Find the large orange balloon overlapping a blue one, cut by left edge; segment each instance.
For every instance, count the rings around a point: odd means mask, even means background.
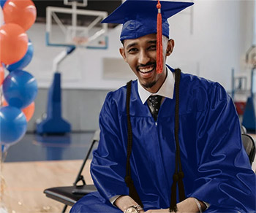
[[[15,23],[4,24],[0,27],[0,61],[12,64],[20,61],[28,50],[29,37]]]

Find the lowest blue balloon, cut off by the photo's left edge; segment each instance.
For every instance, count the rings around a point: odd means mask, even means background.
[[[26,117],[16,107],[0,108],[0,144],[13,144],[26,133]]]

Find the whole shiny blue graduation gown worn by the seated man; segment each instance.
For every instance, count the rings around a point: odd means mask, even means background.
[[[109,198],[129,194],[124,182],[126,93],[124,86],[105,99],[99,116],[99,147],[91,162],[98,192],[80,199],[71,212],[121,212]],[[186,196],[210,204],[206,212],[256,212],[255,174],[241,142],[236,109],[225,89],[217,82],[181,73],[179,105]],[[170,206],[176,151],[174,107],[175,95],[165,98],[156,123],[147,103],[140,101],[138,81],[132,82],[130,162],[132,179],[146,210]]]

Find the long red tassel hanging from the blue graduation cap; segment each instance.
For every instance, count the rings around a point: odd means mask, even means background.
[[[163,58],[162,58],[162,14],[161,14],[161,3],[158,0],[157,3],[157,73],[162,73]]]

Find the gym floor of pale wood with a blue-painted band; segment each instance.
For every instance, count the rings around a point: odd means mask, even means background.
[[[18,144],[10,147],[2,163],[0,209],[12,213],[61,212],[64,205],[47,198],[43,190],[72,185],[93,135],[93,132],[67,136],[26,134]],[[256,139],[255,134],[251,135]],[[83,176],[86,183],[92,184],[89,165],[90,160]],[[256,170],[256,162],[252,169]]]

